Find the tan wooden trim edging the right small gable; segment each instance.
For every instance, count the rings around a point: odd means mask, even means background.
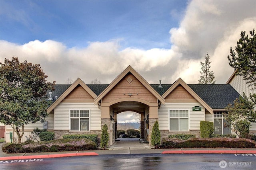
[[[200,98],[181,78],[178,78],[178,80],[176,80],[176,82],[174,82],[174,84],[172,84],[172,86],[166,90],[166,92],[162,95],[163,98],[166,98],[179,84],[183,86],[200,104],[202,104],[206,110],[213,114],[213,109],[206,104],[206,102],[204,102],[204,100],[202,100],[202,98]]]

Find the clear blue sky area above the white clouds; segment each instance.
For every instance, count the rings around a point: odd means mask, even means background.
[[[123,48],[170,48],[184,0],[10,0],[1,1],[0,39],[24,44],[38,39],[86,47],[120,39]],[[161,26],[160,26],[161,25]]]

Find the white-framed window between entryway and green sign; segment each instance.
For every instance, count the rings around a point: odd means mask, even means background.
[[[169,110],[170,131],[188,131],[188,110]]]

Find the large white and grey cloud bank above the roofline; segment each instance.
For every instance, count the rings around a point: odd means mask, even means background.
[[[56,80],[58,84],[78,77],[88,84],[95,78],[109,84],[128,65],[149,83],[157,84],[162,79],[163,84],[171,84],[179,77],[197,83],[200,61],[208,53],[217,83],[226,83],[233,71],[227,60],[230,46],[236,45],[241,31],[249,33],[255,27],[255,5],[255,0],[190,1],[181,12],[180,26],[170,28],[171,49],[120,47],[119,39],[70,49],[53,40],[23,45],[0,40],[0,61],[15,56],[20,61],[39,63],[48,81]]]

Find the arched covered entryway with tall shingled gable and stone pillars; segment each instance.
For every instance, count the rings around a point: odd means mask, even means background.
[[[118,113],[134,111],[141,115],[141,137],[150,144],[150,134],[156,120],[158,108],[164,98],[148,84],[131,66],[128,66],[101,94],[94,99],[101,109],[101,126],[109,129],[113,145],[116,137]]]

